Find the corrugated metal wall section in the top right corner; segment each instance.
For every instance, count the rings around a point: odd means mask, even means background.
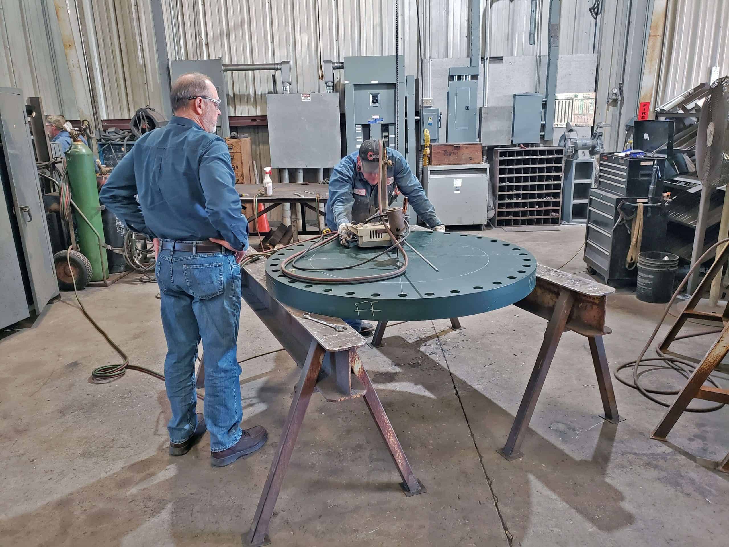
[[[657,104],[708,82],[712,66],[729,75],[729,1],[669,1]]]

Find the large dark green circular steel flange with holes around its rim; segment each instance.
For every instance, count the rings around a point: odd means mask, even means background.
[[[294,244],[266,262],[268,291],[280,302],[313,314],[370,321],[445,319],[480,314],[509,306],[529,295],[537,282],[537,260],[529,251],[488,236],[456,232],[416,231],[408,243],[438,268],[434,271],[405,247],[408,270],[386,281],[355,284],[319,284],[286,277],[281,263],[308,247]],[[351,265],[382,252],[383,247],[341,247],[338,242],[311,252],[297,265],[331,268]],[[358,268],[338,271],[303,271],[317,277],[381,274],[402,265],[394,251]],[[292,265],[289,264],[289,270]]]

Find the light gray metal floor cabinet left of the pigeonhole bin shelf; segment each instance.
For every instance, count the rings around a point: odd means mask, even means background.
[[[446,226],[488,222],[488,163],[425,166],[423,187]]]

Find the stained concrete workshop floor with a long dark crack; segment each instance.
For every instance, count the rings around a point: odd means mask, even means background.
[[[504,233],[540,263],[560,266],[584,228]],[[584,271],[582,254],[566,271]],[[82,299],[134,364],[162,370],[156,284],[128,276]],[[33,328],[5,334],[0,365],[0,544],[235,546],[249,529],[298,378],[284,352],[243,365],[244,427],[270,432],[265,449],[211,468],[208,437],[167,454],[163,384],[130,371],[87,383],[119,362],[69,293]],[[611,367],[636,357],[659,305],[609,300]],[[587,340],[567,333],[523,443],[504,445],[545,321],[513,306],[461,319],[410,322],[365,346],[378,388],[426,494],[406,498],[361,400],[315,395],[271,523],[275,546],[719,546],[729,536],[729,476],[696,463],[729,451],[726,408],[685,414],[670,443],[648,438],[663,408],[614,381],[624,422],[603,422]],[[689,325],[687,332],[703,327]],[[695,354],[706,339],[682,342]],[[243,305],[238,355],[278,344]],[[661,376],[663,385],[682,385]],[[726,385],[726,382],[725,382]],[[202,405],[198,406],[202,408]],[[724,538],[722,540],[722,538]]]

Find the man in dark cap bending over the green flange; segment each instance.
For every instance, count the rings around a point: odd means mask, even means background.
[[[387,168],[387,199],[392,203],[402,193],[410,201],[415,212],[429,228],[445,231],[433,204],[425,195],[422,185],[410,169],[405,157],[393,148],[386,148],[387,158],[392,165]],[[339,241],[349,247],[356,238],[349,230],[352,222],[367,220],[377,210],[378,184],[380,183],[380,148],[378,142],[370,139],[362,142],[357,152],[345,156],[332,171],[327,200],[327,226],[339,233]],[[344,319],[352,328],[362,334],[375,330],[374,325],[359,319]]]

